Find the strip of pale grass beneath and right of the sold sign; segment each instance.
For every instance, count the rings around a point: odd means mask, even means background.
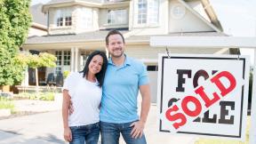
[[[218,139],[199,139],[196,140],[195,144],[249,144],[249,132],[251,127],[251,116],[247,116],[247,123],[246,123],[246,136],[245,141],[239,140],[218,140]]]

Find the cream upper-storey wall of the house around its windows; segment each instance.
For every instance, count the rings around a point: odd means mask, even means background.
[[[50,8],[49,9],[49,34],[74,34],[83,33],[88,31],[95,31],[98,29],[108,28],[129,28],[132,30],[133,35],[163,35],[175,32],[199,32],[199,31],[214,31],[209,25],[205,24],[204,20],[196,17],[196,15],[190,12],[187,8],[183,17],[177,19],[173,17],[173,6],[180,4],[177,0],[159,0],[159,15],[157,24],[138,24],[138,0],[130,1],[130,7],[121,6],[117,8],[92,8],[92,28],[84,28],[83,9],[89,8],[82,5],[76,5],[72,7],[64,8]],[[205,20],[209,21],[207,14],[204,11],[200,1],[190,1],[187,4],[200,13]],[[182,4],[180,4],[182,5]],[[184,6],[183,6],[184,7]],[[118,9],[128,10],[128,23],[127,24],[108,24],[108,10]],[[56,13],[58,10],[69,10],[72,12],[72,26],[57,27]]]

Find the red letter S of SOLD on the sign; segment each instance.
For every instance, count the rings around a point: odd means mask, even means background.
[[[168,109],[165,113],[165,116],[169,121],[176,121],[176,120],[180,119],[180,123],[177,122],[177,123],[172,124],[175,129],[179,129],[180,126],[187,123],[187,118],[182,113],[177,113],[177,114],[171,115],[172,112],[175,112],[178,110],[179,110],[179,108],[176,105],[174,105],[172,108]]]

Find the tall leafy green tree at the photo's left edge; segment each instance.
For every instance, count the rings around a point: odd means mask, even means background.
[[[0,85],[19,84],[24,65],[17,54],[28,36],[30,0],[0,0]]]

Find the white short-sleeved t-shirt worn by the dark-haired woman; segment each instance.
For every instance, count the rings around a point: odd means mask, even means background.
[[[100,121],[100,100],[102,89],[98,82],[92,83],[83,73],[71,73],[63,85],[68,90],[74,112],[68,117],[69,126],[94,124]]]

